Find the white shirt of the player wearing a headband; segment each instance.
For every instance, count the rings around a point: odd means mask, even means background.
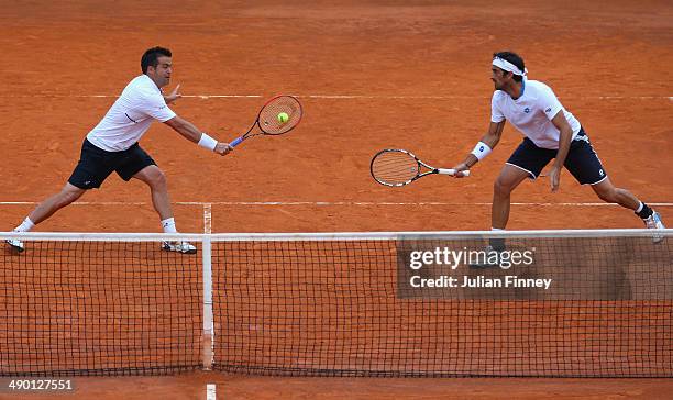
[[[523,93],[516,100],[503,90],[493,93],[490,121],[498,123],[507,120],[536,146],[556,149],[560,132],[551,120],[561,110],[575,138],[581,129],[580,121],[563,108],[551,88],[537,80],[525,80]]]

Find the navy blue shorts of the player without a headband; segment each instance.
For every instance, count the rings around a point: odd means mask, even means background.
[[[68,182],[80,189],[100,188],[113,171],[123,180],[129,180],[151,165],[156,163],[137,143],[122,152],[107,152],[85,138],[79,163]]]

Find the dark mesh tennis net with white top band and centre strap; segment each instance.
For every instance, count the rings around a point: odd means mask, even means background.
[[[672,377],[672,236],[2,233],[0,375]]]

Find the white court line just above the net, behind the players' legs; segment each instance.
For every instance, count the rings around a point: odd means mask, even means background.
[[[37,205],[35,201],[0,201],[0,205]],[[76,201],[71,205],[148,205],[147,202],[123,202],[123,201]],[[203,218],[208,209],[209,216],[212,212],[212,205],[492,205],[490,202],[442,202],[442,201],[421,201],[421,202],[388,202],[388,201],[178,201],[177,205],[198,205],[203,207]],[[652,207],[673,207],[673,203],[659,202],[647,203]],[[610,203],[583,203],[583,202],[564,202],[564,203],[517,203],[511,205],[530,205],[530,207],[621,207]]]

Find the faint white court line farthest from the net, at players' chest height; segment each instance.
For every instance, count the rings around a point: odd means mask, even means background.
[[[333,100],[453,100],[453,99],[490,99],[490,96],[413,96],[413,95],[293,95],[304,99],[333,99]],[[11,98],[48,98],[48,99],[114,99],[119,95],[16,95],[0,96]],[[183,95],[184,98],[195,99],[260,99],[267,96],[263,95]],[[580,96],[573,99],[585,100],[669,100],[673,101],[673,96]]]

